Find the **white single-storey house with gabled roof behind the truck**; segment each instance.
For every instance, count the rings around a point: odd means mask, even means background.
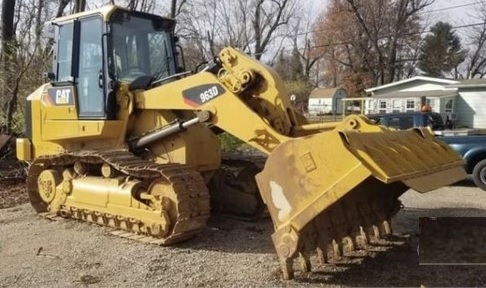
[[[486,128],[486,79],[416,76],[365,91],[365,114],[420,111],[429,104],[456,127]]]

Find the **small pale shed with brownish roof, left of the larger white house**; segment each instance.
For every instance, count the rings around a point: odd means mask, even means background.
[[[310,114],[339,114],[343,111],[342,99],[347,96],[343,88],[315,88],[309,95]]]

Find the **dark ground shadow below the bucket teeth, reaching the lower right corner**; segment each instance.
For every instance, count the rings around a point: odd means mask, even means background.
[[[329,268],[322,268],[307,275],[307,279],[299,277],[295,281],[352,287],[471,287],[486,284],[484,266],[419,266],[416,248],[403,237],[395,237],[387,251],[365,257],[360,263],[347,264],[342,272],[327,270]]]

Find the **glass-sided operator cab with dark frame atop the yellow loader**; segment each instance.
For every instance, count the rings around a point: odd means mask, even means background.
[[[177,72],[172,19],[106,6],[51,23],[49,78],[53,86],[73,91],[79,119],[115,119],[121,82],[146,88]]]

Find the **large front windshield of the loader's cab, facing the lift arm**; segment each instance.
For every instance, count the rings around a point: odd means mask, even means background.
[[[175,73],[172,25],[162,21],[169,20],[117,15],[112,26],[116,80],[132,81],[143,75],[162,79]]]

